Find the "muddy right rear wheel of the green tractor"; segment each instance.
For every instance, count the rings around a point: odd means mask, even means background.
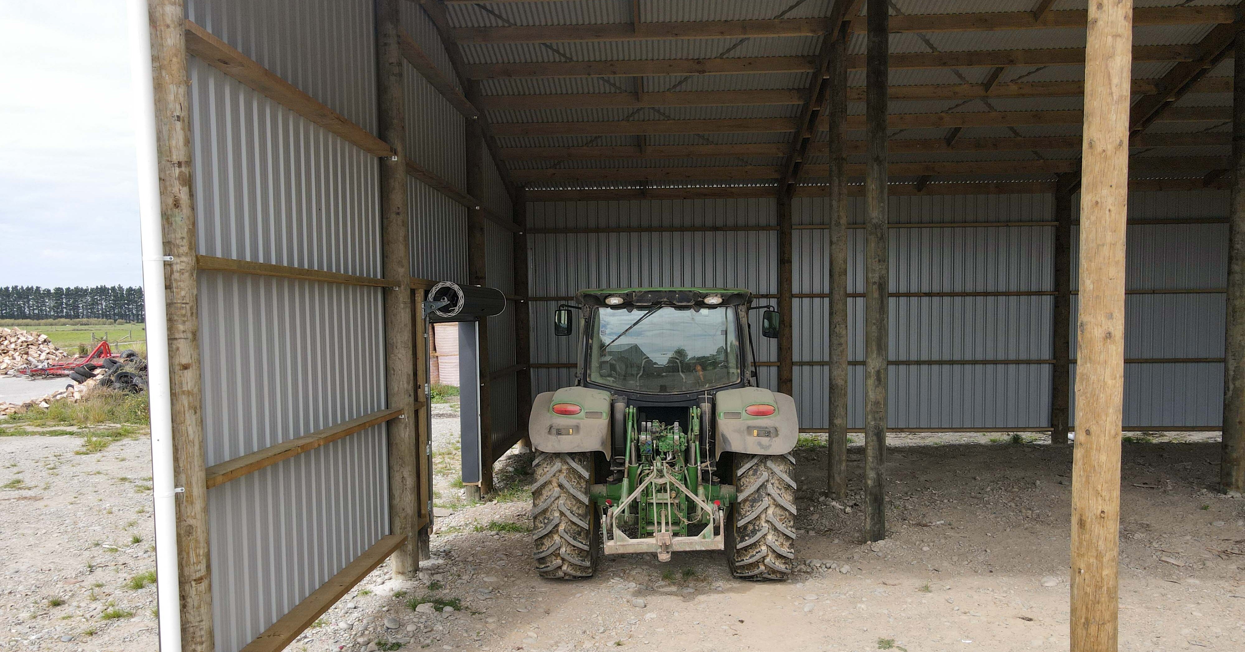
[[[796,458],[736,454],[735,489],[726,546],[731,574],[786,580],[796,564]]]

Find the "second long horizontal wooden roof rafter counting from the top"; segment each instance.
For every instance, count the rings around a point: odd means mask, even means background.
[[[1056,47],[1046,50],[984,50],[967,52],[909,52],[890,56],[895,70],[920,68],[994,68],[998,66],[1081,66],[1084,50]],[[1149,45],[1133,49],[1134,61],[1190,61],[1196,46]],[[463,73],[473,80],[524,77],[635,77],[637,75],[741,75],[774,72],[812,72],[815,56],[768,56],[732,58],[664,58],[626,61],[554,61],[515,63],[473,63]],[[848,57],[849,70],[864,70],[864,55]]]

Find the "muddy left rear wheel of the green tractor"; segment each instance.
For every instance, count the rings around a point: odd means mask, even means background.
[[[596,572],[600,524],[593,515],[591,453],[542,453],[533,460],[532,539],[542,577],[574,580]]]

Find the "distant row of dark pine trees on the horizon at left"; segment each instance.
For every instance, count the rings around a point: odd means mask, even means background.
[[[0,286],[0,319],[143,321],[143,289]]]

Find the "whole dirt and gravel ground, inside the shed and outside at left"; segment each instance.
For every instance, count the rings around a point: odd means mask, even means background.
[[[591,580],[549,581],[532,571],[530,455],[507,457],[498,500],[472,504],[453,479],[457,413],[435,414],[437,504],[449,515],[433,559],[415,580],[381,566],[288,650],[1068,646],[1071,450],[1036,435],[893,433],[890,538],[872,545],[859,483],[828,500],[824,439],[803,439],[801,566],[788,582],[732,580],[710,552],[610,556]],[[154,564],[139,511],[147,442],[73,455],[78,443],[0,438],[0,484],[25,485],[0,491],[0,650],[154,650],[152,589],[126,586]],[[859,444],[849,454],[859,472]],[[1210,490],[1218,459],[1216,433],[1125,442],[1120,650],[1245,650],[1245,500]],[[66,603],[50,606],[55,596]],[[133,615],[103,620],[110,601]]]

